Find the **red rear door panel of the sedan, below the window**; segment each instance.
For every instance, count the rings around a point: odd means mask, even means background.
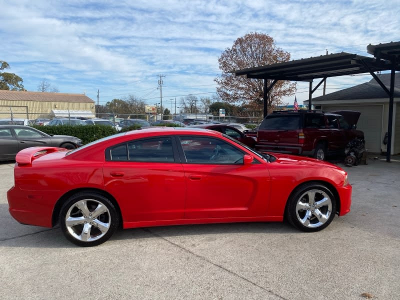
[[[103,176],[124,222],[183,218],[185,178],[180,163],[106,161]]]

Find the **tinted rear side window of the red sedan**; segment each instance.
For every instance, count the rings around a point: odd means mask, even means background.
[[[120,144],[108,149],[107,160],[173,162],[172,140],[157,137]]]

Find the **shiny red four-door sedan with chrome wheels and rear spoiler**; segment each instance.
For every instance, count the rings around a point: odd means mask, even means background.
[[[67,239],[98,245],[115,229],[287,220],[304,231],[350,210],[347,173],[328,162],[261,154],[222,133],[155,127],[74,150],[16,155],[9,212],[24,224],[60,224]]]

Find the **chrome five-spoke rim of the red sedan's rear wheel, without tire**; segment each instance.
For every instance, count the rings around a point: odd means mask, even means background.
[[[100,201],[82,199],[73,203],[65,214],[65,227],[77,240],[90,242],[103,237],[110,228],[108,208]]]

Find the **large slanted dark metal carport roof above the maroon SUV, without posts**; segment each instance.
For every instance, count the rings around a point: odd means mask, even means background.
[[[400,47],[400,46],[397,46]],[[233,71],[236,76],[290,81],[360,74],[390,69],[390,61],[340,52]],[[400,67],[397,63],[397,70]]]

